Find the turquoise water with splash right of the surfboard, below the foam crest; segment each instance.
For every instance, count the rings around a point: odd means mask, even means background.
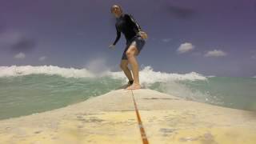
[[[213,77],[206,81],[155,83],[150,89],[196,102],[256,111],[256,78]]]

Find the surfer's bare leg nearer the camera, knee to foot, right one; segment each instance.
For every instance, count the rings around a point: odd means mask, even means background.
[[[138,55],[138,50],[134,45],[131,45],[126,51],[126,56],[128,58],[128,62],[132,67],[134,82],[131,86],[126,88],[127,90],[136,90],[141,88],[138,78],[138,62],[137,59],[135,58],[136,55]]]

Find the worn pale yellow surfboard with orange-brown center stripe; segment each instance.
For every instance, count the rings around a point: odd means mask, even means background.
[[[112,90],[64,108],[2,120],[0,142],[254,144],[256,113],[149,89]]]

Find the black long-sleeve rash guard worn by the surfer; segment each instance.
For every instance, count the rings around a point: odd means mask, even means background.
[[[113,45],[115,45],[120,39],[121,32],[125,35],[127,43],[142,30],[131,14],[122,14],[116,19],[117,22],[115,23],[115,28],[117,30],[117,37],[115,38]]]

